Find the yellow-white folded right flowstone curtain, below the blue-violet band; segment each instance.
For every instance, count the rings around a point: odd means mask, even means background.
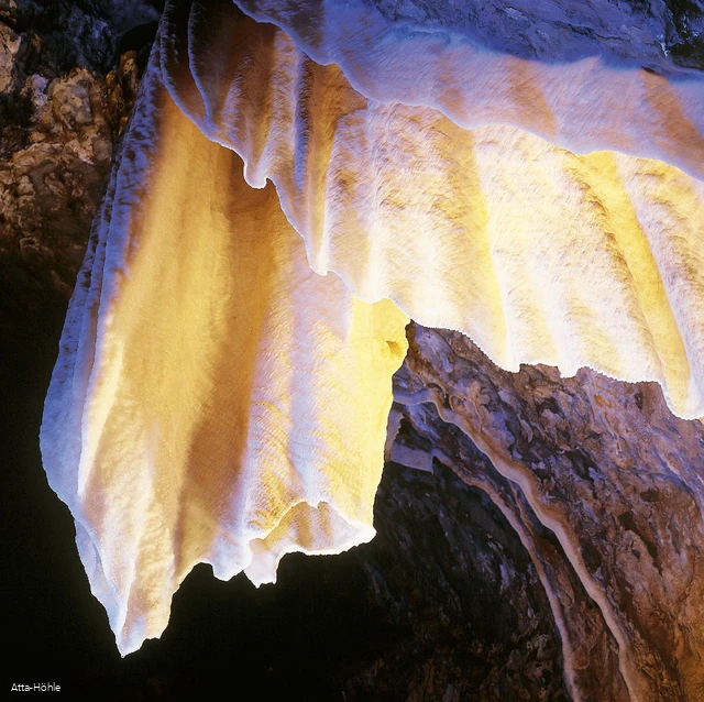
[[[169,92],[242,156],[251,185],[276,184],[315,271],[462,331],[504,369],[657,381],[676,415],[704,416],[702,180],[662,161],[574,154],[516,125],[463,129],[431,107],[371,100],[286,32],[234,6],[215,17],[199,7],[167,11]],[[663,144],[675,111],[651,114]],[[622,118],[612,141],[626,138]]]

